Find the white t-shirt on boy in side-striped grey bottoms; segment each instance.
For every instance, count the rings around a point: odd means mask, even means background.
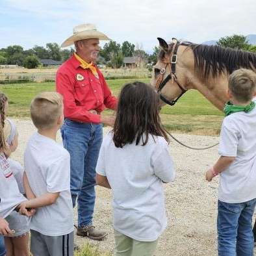
[[[37,209],[31,229],[43,235],[60,236],[73,231],[70,194],[70,154],[55,140],[34,133],[25,149],[25,172],[32,191],[38,196],[60,192],[52,205]]]

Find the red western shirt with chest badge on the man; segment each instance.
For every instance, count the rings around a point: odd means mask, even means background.
[[[80,62],[71,56],[56,76],[56,90],[64,99],[64,116],[78,122],[100,123],[100,115],[89,110],[102,112],[105,107],[116,109],[117,99],[112,96],[103,74],[96,67],[97,78],[90,69],[84,70]]]

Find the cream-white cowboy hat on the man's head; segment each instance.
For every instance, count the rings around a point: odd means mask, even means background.
[[[97,38],[99,40],[111,40],[105,34],[97,31],[94,24],[81,24],[73,28],[73,36],[70,36],[60,47],[67,47],[74,42],[84,39]]]

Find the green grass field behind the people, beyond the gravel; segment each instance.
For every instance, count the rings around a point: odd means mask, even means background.
[[[149,83],[149,79],[108,80],[112,92],[118,96],[123,84],[131,81]],[[9,99],[8,116],[29,118],[29,105],[38,92],[55,90],[55,83],[6,84],[0,86]],[[112,114],[106,110],[107,114]],[[217,135],[224,114],[213,107],[196,90],[190,90],[179,99],[174,107],[165,106],[161,110],[162,123],[169,131],[180,133]]]

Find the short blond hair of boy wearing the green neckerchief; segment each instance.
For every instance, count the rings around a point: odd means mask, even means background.
[[[229,90],[241,103],[250,101],[255,94],[256,73],[241,68],[229,75]]]

